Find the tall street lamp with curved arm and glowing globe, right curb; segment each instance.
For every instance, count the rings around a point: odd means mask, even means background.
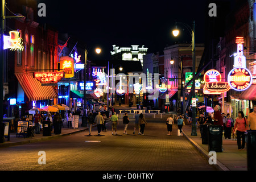
[[[176,22],[176,27],[177,27],[177,23],[183,24],[183,26],[185,26],[188,31],[191,33],[192,32],[192,60],[193,60],[193,78],[192,78],[192,98],[195,98],[195,82],[196,82],[196,55],[195,55],[195,51],[196,51],[196,45],[195,45],[195,21],[193,21],[193,28],[191,28],[190,26],[188,26],[188,24],[186,23],[181,23],[181,22]],[[179,30],[177,30],[177,28],[172,31],[172,34],[174,36],[179,35]],[[192,136],[197,136],[197,132],[196,132],[196,105],[192,104],[192,131],[191,131],[191,135]]]

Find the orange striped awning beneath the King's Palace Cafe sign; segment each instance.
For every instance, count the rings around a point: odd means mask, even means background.
[[[32,75],[15,74],[20,86],[24,90],[28,101],[48,100],[58,98],[52,86],[42,86]]]

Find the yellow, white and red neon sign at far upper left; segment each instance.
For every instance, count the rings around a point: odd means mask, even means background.
[[[20,50],[23,51],[22,38],[19,37],[18,31],[10,31],[10,36],[3,36],[3,49],[10,48],[10,51]]]

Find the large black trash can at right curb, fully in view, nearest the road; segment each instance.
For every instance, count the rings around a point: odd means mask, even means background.
[[[208,150],[222,152],[222,131],[221,125],[210,125],[208,130]]]

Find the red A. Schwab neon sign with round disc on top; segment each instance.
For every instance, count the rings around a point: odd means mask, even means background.
[[[221,74],[215,69],[210,69],[204,74],[204,94],[221,94],[230,89],[228,82],[221,81]]]

